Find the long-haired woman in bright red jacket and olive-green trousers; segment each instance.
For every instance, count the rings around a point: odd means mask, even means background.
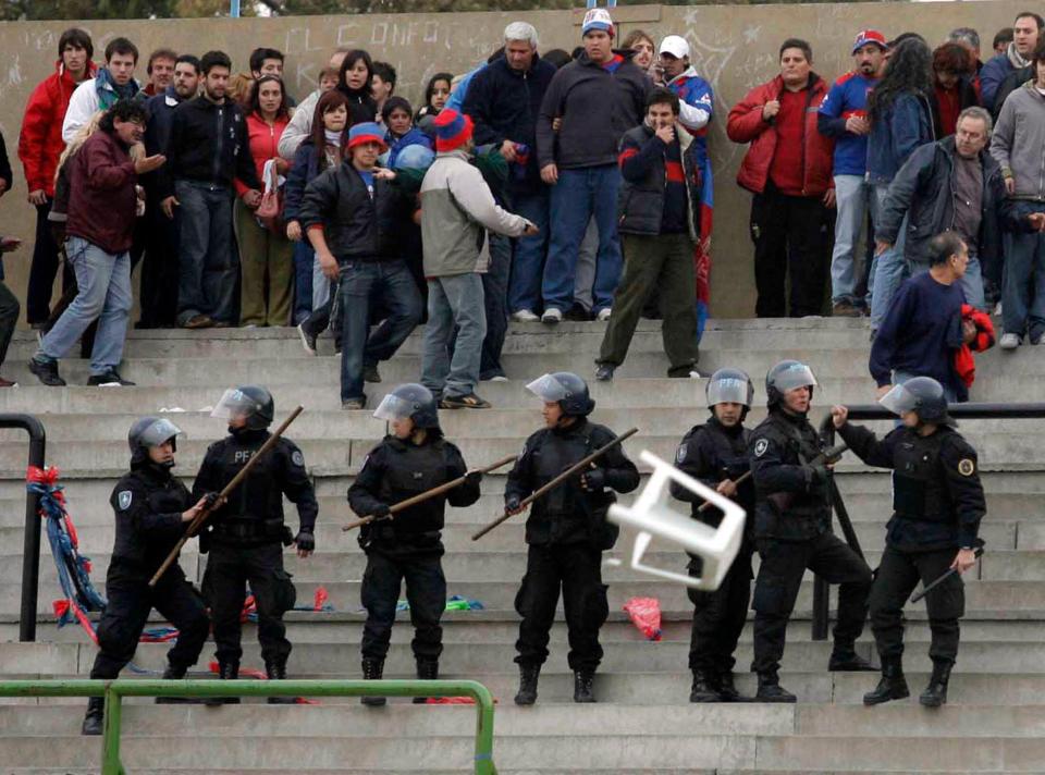
[[[247,134],[250,155],[262,182],[269,160],[279,175],[285,175],[291,164],[281,159],[280,136],[291,121],[286,107],[286,90],[275,75],[258,78],[250,93]],[[261,223],[255,210],[243,200],[246,186],[236,181],[234,222],[239,243],[239,324],[288,325],[294,298],[294,245],[286,238],[282,224]],[[268,283],[266,283],[268,279]]]

